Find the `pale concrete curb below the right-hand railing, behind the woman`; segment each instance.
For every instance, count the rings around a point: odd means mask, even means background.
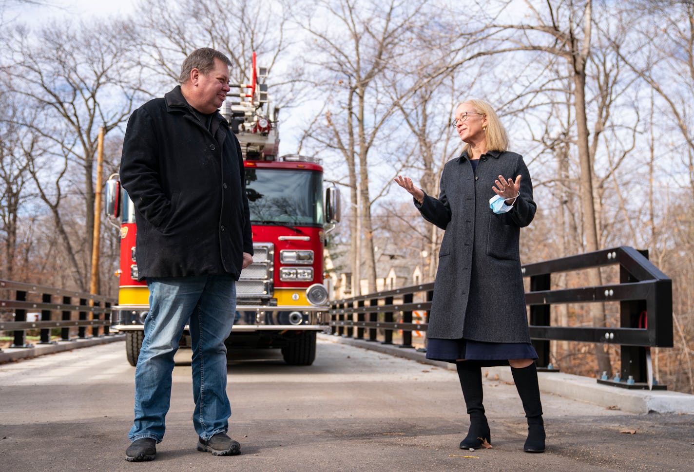
[[[320,339],[328,342],[348,344],[349,346],[370,349],[371,351],[378,351],[396,357],[405,357],[405,359],[415,360],[422,364],[435,365],[442,369],[455,370],[455,364],[428,360],[425,353],[418,352],[412,348],[400,348],[393,344],[381,344],[380,342],[369,342],[362,339],[334,335],[319,336]],[[514,381],[509,366],[485,367],[484,371],[492,378],[498,376],[499,380],[504,382]],[[622,389],[620,387],[599,384],[595,382],[594,378],[575,376],[562,372],[539,372],[538,380],[540,389],[543,392],[593,403],[606,408],[609,407],[613,410],[639,414],[650,412],[694,414],[694,395],[682,394],[679,391]]]

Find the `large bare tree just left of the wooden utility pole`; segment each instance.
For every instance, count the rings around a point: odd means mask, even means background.
[[[65,228],[58,228],[68,251],[75,246],[84,248],[81,257],[87,261],[91,254],[94,225],[94,153],[99,126],[110,131],[123,123],[133,107],[135,92],[130,85],[128,63],[124,58],[132,43],[132,30],[125,22],[75,25],[53,23],[38,31],[25,26],[15,27],[7,35],[3,52],[8,60],[2,70],[8,77],[12,92],[24,97],[26,106],[42,112],[39,123],[22,126],[42,137],[46,153],[65,158],[57,165],[53,180],[46,175],[56,194],[60,186],[71,183],[71,190],[83,199],[85,228],[83,241],[70,242]],[[41,198],[51,208],[56,224],[63,224],[60,199],[53,198],[40,178],[35,165],[33,176]],[[81,176],[79,178],[78,176]],[[52,202],[52,203],[51,203]],[[85,269],[77,256],[70,256],[75,282],[86,289]]]

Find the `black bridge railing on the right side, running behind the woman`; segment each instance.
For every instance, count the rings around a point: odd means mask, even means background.
[[[619,265],[620,283],[598,287],[551,289],[552,274]],[[530,277],[530,337],[548,369],[550,341],[591,342],[621,346],[620,371],[598,382],[627,388],[652,385],[651,347],[672,347],[672,281],[648,260],[648,251],[629,246],[572,255],[534,264],[521,271]],[[426,330],[434,284],[413,285],[331,301],[332,334],[393,344],[393,331],[403,332],[399,346],[412,346],[412,332]],[[619,302],[619,327],[550,326],[550,307],[563,303]],[[425,322],[414,323],[413,312],[425,310]]]

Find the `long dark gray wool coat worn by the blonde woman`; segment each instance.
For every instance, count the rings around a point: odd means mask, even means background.
[[[495,214],[489,199],[498,176],[521,175],[514,208]],[[532,182],[521,155],[489,151],[473,172],[468,155],[446,163],[438,199],[415,205],[422,216],[446,230],[427,336],[482,342],[530,342],[525,291],[518,253],[520,230],[535,216]]]

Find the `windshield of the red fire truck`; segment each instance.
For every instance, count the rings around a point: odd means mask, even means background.
[[[317,171],[246,167],[251,221],[323,225],[323,176]]]

